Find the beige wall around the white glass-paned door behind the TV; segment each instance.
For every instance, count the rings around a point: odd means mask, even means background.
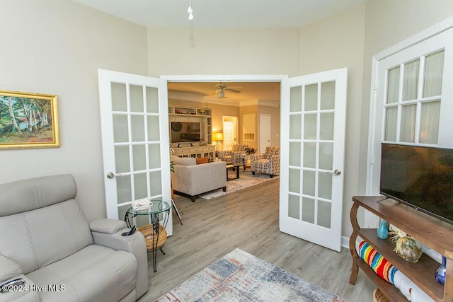
[[[360,137],[360,194],[365,194],[372,57],[453,16],[451,0],[369,0],[365,14],[365,52]]]

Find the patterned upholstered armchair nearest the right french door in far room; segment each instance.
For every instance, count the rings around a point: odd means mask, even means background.
[[[265,153],[252,154],[251,156],[252,174],[265,173],[270,178],[280,174],[280,147],[268,146]]]

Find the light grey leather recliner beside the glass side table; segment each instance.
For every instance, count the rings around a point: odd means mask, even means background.
[[[125,221],[88,222],[72,175],[0,185],[0,301],[136,301],[147,246]],[[25,282],[25,283],[23,283]],[[16,287],[14,287],[16,285]]]

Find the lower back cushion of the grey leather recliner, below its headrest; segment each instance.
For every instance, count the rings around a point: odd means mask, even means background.
[[[74,199],[0,217],[0,230],[0,254],[21,265],[24,274],[93,244],[88,221]]]

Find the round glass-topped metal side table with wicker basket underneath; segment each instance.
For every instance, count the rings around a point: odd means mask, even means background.
[[[170,216],[171,201],[164,199],[149,199],[152,202],[149,209],[135,210],[132,207],[127,209],[125,214],[125,221],[128,227],[131,227],[130,216],[132,219],[138,215],[149,215],[151,223],[145,226],[140,226],[137,231],[143,234],[144,240],[147,243],[148,252],[153,253],[153,268],[154,272],[157,272],[156,255],[157,250],[161,250],[162,254],[165,255],[162,247],[164,246],[167,239],[167,232],[165,227],[168,223]],[[159,222],[159,215],[162,215],[162,224]]]

